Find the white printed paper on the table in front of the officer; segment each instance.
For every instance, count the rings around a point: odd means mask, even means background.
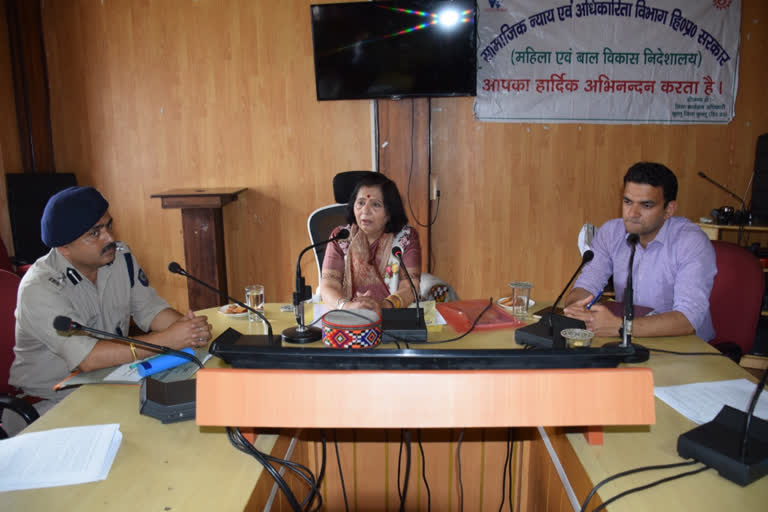
[[[122,439],[117,423],[4,439],[0,441],[0,492],[104,480]]]

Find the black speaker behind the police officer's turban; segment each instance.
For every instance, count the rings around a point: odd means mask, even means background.
[[[20,264],[34,263],[49,250],[40,239],[40,219],[48,199],[77,185],[77,180],[72,173],[6,174],[6,185],[14,255]]]

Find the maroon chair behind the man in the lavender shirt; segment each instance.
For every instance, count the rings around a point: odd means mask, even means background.
[[[715,327],[711,343],[724,353],[733,352],[736,345],[741,354],[747,354],[755,343],[760,320],[763,267],[743,247],[717,240],[712,245],[717,275],[709,296],[709,312]]]

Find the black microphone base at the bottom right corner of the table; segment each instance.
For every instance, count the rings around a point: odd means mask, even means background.
[[[677,453],[711,466],[723,478],[747,486],[768,475],[768,421],[752,416],[747,455],[740,457],[747,414],[728,405],[709,423],[677,438]]]

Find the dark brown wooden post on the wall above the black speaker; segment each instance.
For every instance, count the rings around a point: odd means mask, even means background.
[[[16,117],[25,172],[54,172],[40,2],[6,0]]]

